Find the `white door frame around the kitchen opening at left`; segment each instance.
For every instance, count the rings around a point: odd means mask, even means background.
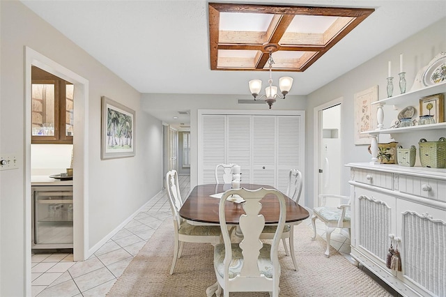
[[[89,119],[89,81],[84,77],[73,73],[59,63],[48,59],[46,56],[25,47],[25,86],[24,86],[24,119],[25,119],[25,190],[24,190],[24,283],[25,296],[31,296],[31,68],[36,66],[47,73],[61,77],[74,86],[74,119],[73,122],[73,254],[74,261],[84,261],[89,257],[88,252],[88,119]]]

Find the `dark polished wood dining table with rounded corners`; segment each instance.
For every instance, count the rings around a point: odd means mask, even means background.
[[[247,190],[257,190],[259,188],[274,189],[270,185],[256,185],[252,183],[241,183],[240,188]],[[196,185],[190,192],[183,206],[180,208],[180,216],[191,222],[192,224],[220,224],[218,208],[223,192],[231,189],[231,184],[227,183],[210,183],[206,185]],[[302,220],[309,217],[308,211],[295,203],[294,200],[286,197],[286,224],[299,224]],[[260,213],[265,218],[265,224],[277,224],[279,221],[279,200],[275,195],[266,195],[261,199],[262,208]],[[241,203],[227,201],[224,205],[226,214],[226,224],[238,225],[240,215],[245,213]],[[293,251],[291,251],[293,252]],[[212,284],[206,289],[206,296],[210,297],[215,294],[218,289],[218,282]]]

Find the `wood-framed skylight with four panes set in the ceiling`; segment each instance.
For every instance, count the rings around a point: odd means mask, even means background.
[[[209,3],[211,70],[305,71],[373,8]]]

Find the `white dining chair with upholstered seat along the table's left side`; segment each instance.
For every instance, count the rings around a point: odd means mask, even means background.
[[[171,170],[166,174],[166,189],[169,196],[169,204],[174,217],[174,259],[170,268],[170,274],[174,273],[176,259],[181,257],[184,243],[220,243],[221,234],[219,226],[202,226],[189,224],[180,217],[179,211],[183,206],[178,184],[178,173]]]

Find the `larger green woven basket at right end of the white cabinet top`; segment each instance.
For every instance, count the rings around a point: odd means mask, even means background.
[[[420,161],[422,167],[446,168],[446,138],[440,137],[438,142],[427,142],[420,139]]]

